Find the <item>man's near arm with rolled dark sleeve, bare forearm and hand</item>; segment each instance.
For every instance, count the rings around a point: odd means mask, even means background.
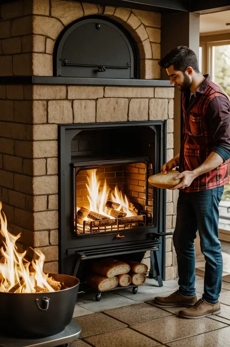
[[[182,181],[173,189],[189,187],[196,177],[214,170],[230,158],[229,100],[225,97],[215,97],[207,107],[206,119],[214,140],[214,150],[198,168],[176,176],[175,179],[182,178]]]

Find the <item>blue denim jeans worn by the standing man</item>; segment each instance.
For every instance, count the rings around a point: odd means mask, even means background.
[[[198,230],[201,252],[206,260],[203,298],[212,304],[218,302],[222,283],[223,260],[218,240],[218,207],[223,191],[224,187],[197,193],[180,191],[173,234],[179,292],[192,296],[196,295],[194,240]]]

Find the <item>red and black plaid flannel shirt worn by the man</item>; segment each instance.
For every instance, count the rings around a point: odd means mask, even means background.
[[[187,96],[185,93],[181,94],[180,172],[196,169],[212,152],[222,156],[224,162],[214,170],[198,176],[184,192],[209,190],[229,183],[230,102],[224,91],[211,81],[210,76],[205,77],[187,108]],[[215,104],[210,104],[212,101]],[[219,108],[218,105],[223,107]]]

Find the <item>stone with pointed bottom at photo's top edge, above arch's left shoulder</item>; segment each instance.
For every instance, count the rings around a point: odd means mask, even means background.
[[[59,18],[64,25],[83,17],[82,5],[79,2],[51,0],[51,16]]]

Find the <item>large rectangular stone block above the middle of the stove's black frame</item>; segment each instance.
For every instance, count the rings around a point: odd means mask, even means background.
[[[104,98],[97,101],[97,122],[127,121],[128,99]],[[109,111],[109,114],[108,114]]]

